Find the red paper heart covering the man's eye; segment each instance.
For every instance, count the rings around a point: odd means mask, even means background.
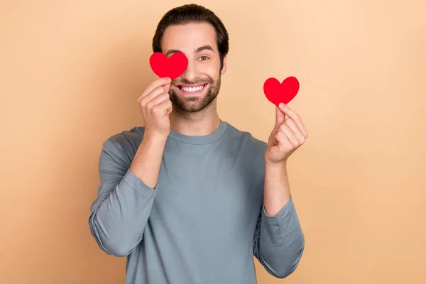
[[[188,60],[183,53],[173,53],[170,58],[163,53],[153,53],[149,58],[149,65],[158,77],[170,77],[175,80],[185,72]]]

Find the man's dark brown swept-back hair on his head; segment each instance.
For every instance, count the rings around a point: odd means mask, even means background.
[[[180,25],[185,23],[210,23],[216,31],[216,43],[219,51],[220,69],[224,64],[224,57],[229,51],[229,35],[222,21],[212,11],[197,4],[186,4],[171,9],[158,23],[153,37],[153,52],[162,52],[161,38],[165,28],[170,25]]]

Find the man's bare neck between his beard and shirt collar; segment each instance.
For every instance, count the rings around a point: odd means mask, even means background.
[[[207,136],[220,126],[216,99],[208,107],[198,112],[181,111],[173,105],[173,111],[169,117],[170,128],[187,136]]]

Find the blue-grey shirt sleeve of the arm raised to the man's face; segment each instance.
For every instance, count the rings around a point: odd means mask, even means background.
[[[151,214],[156,185],[148,187],[131,170],[131,161],[114,139],[102,146],[97,198],[92,203],[89,228],[102,251],[127,256],[142,241]]]

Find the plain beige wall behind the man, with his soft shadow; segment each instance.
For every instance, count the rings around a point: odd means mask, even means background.
[[[268,77],[310,137],[290,158],[306,237],[286,279],[426,283],[426,2],[199,1],[230,34],[219,115],[267,141]],[[0,283],[124,283],[89,233],[109,136],[143,125],[151,39],[182,1],[0,1]],[[231,252],[230,252],[231,253]]]

